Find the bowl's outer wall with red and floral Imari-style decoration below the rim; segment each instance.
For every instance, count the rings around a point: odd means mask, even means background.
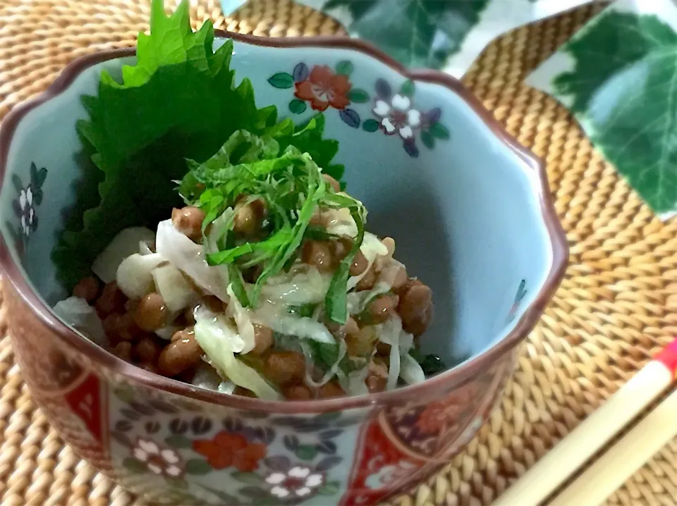
[[[11,294],[8,302],[20,311],[20,366],[51,424],[89,462],[160,504],[382,500],[425,479],[468,443],[498,402],[516,357],[506,355],[435,402],[267,414],[185,400],[97,370],[80,354],[62,352]]]

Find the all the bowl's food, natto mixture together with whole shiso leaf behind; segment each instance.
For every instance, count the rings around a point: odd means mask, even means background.
[[[163,35],[152,23],[149,40],[169,51],[200,32]],[[365,230],[322,113],[295,125],[257,109],[248,80],[234,85],[231,42],[204,62],[224,75],[219,87],[193,87],[187,66],[171,76],[181,99],[159,113],[144,84],[163,67],[145,40],[123,82],[104,73],[84,97],[78,132],[101,200],[76,206],[83,233],[66,230],[55,249],[73,285],[56,313],[149,371],[265,400],[392,390],[444,369],[417,346],[432,291],[394,258],[392,238]],[[205,104],[222,106],[219,129],[197,136],[191,115]]]

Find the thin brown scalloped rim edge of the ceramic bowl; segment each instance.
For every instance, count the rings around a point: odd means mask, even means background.
[[[554,202],[549,190],[547,173],[542,161],[519,144],[515,137],[508,134],[503,125],[501,125],[499,121],[496,121],[487,109],[484,109],[480,101],[476,99],[459,80],[437,70],[408,70],[371,44],[362,42],[358,39],[350,39],[348,37],[257,37],[225,32],[223,30],[215,30],[215,35],[219,38],[233,39],[245,44],[262,47],[305,47],[313,49],[347,49],[357,51],[385,63],[404,78],[408,78],[414,82],[429,82],[442,85],[457,94],[458,97],[461,97],[461,99],[470,106],[472,111],[487,124],[493,135],[506,144],[506,146],[524,162],[524,170],[534,172],[537,175],[537,178],[539,178],[541,184],[539,185],[537,197],[539,199],[541,218],[547,230],[551,246],[552,259],[546,280],[535,299],[525,308],[525,311],[516,323],[516,326],[504,339],[495,343],[492,347],[489,347],[476,357],[469,359],[449,371],[429,378],[423,383],[409,385],[389,392],[374,393],[358,397],[339,397],[335,399],[309,401],[266,401],[212,392],[197,388],[193,385],[188,385],[187,383],[181,383],[180,381],[165,378],[164,376],[152,374],[149,371],[145,371],[145,369],[140,369],[133,364],[118,359],[102,347],[83,338],[78,333],[75,333],[70,327],[61,323],[61,321],[56,319],[51,313],[49,307],[44,304],[41,297],[37,295],[28,281],[24,278],[20,266],[16,264],[11,254],[9,254],[8,245],[6,244],[4,237],[0,237],[0,268],[4,275],[5,282],[11,283],[13,290],[16,291],[21,300],[23,300],[30,308],[30,311],[37,316],[39,321],[47,327],[51,333],[58,336],[63,347],[77,350],[99,366],[110,369],[111,371],[114,371],[114,373],[128,378],[133,382],[140,383],[147,388],[164,390],[169,393],[209,402],[215,405],[235,407],[249,411],[300,414],[332,412],[341,409],[354,409],[374,405],[401,406],[406,402],[421,402],[422,399],[431,398],[431,394],[434,396],[436,395],[435,393],[449,392],[455,386],[472,381],[473,378],[477,377],[483,371],[489,370],[494,363],[498,362],[505,354],[511,352],[513,348],[526,338],[536,326],[545,307],[549,304],[554,292],[559,287],[559,284],[564,277],[568,263],[568,242],[566,240],[566,234],[564,233],[554,208]],[[35,99],[16,106],[8,113],[2,122],[2,128],[0,128],[0,189],[5,183],[7,171],[6,164],[13,135],[23,117],[32,111],[32,109],[54,99],[54,97],[64,92],[71,84],[73,84],[75,78],[77,78],[86,68],[111,59],[129,56],[135,56],[135,48],[112,49],[80,57],[68,64],[45,92]]]

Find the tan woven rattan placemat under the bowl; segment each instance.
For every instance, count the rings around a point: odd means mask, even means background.
[[[289,0],[252,0],[233,18],[224,18],[214,0],[190,3],[195,25],[212,18],[228,30],[274,36],[341,31]],[[571,266],[523,348],[500,409],[444,471],[393,505],[490,504],[677,333],[677,222],[659,222],[566,110],[521,83],[595,9],[511,32],[465,77],[508,130],[547,161]],[[0,118],[44,90],[73,58],[133,45],[148,18],[148,0],[0,0]],[[0,335],[8,317],[0,307]],[[0,383],[2,505],[140,505],[49,428],[7,338],[0,340]],[[676,503],[676,442],[608,501]]]

